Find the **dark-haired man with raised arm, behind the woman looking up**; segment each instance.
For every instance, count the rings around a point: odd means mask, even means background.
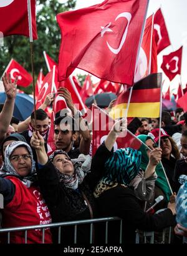
[[[70,159],[79,157],[79,154],[89,154],[90,131],[82,118],[80,111],[75,109],[70,92],[65,88],[60,88],[59,93],[64,97],[67,106],[72,111],[73,116],[66,111],[59,111],[55,115],[54,140],[56,149],[62,149],[69,155]],[[59,94],[59,95],[60,95]],[[74,148],[74,141],[80,132],[81,139],[79,148]]]

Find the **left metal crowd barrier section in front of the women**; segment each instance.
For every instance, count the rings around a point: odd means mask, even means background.
[[[54,224],[46,224],[46,225],[31,225],[26,227],[13,227],[8,229],[0,229],[0,234],[7,233],[7,244],[10,244],[10,234],[11,232],[24,231],[25,244],[27,244],[27,230],[32,229],[42,229],[42,244],[45,241],[45,229],[58,228],[58,244],[60,244],[61,240],[61,228],[65,226],[74,225],[74,244],[77,244],[77,225],[82,224],[90,224],[90,244],[93,243],[93,224],[98,222],[105,222],[105,244],[108,244],[108,222],[120,220],[120,241],[122,244],[122,219],[118,217],[108,217],[108,218],[98,218],[98,219],[90,219],[90,220],[77,220],[70,222],[58,222]]]

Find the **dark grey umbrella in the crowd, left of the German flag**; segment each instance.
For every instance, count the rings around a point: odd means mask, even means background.
[[[117,96],[112,92],[103,92],[100,94],[95,94],[95,101],[97,102],[98,107],[108,107],[110,101],[116,99]],[[91,107],[93,102],[93,96],[90,96],[86,99],[85,104],[87,107]]]

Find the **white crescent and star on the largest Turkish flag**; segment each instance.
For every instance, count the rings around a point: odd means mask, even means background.
[[[125,39],[127,37],[127,32],[128,32],[128,26],[130,24],[130,21],[132,19],[132,15],[130,14],[130,12],[122,12],[120,14],[118,14],[118,16],[115,18],[115,21],[117,21],[117,19],[119,19],[120,17],[124,17],[125,19],[127,19],[128,23],[127,23],[127,27],[125,28],[125,31],[123,33],[123,36],[122,36],[122,40],[120,41],[120,46],[115,49],[113,48],[112,46],[110,46],[110,44],[108,43],[107,41],[107,46],[108,46],[108,49],[113,52],[113,54],[118,54],[120,52],[120,50],[122,49],[123,47],[123,44],[125,43]],[[103,27],[101,26],[102,28],[102,31],[100,32],[101,33],[101,37],[103,37],[103,35],[105,34],[105,32],[113,32],[112,29],[110,29],[110,26],[111,26],[112,22],[110,22],[107,26]]]

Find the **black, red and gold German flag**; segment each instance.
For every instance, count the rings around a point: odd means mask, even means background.
[[[154,73],[144,77],[133,86],[127,117],[160,116],[160,87],[162,74]],[[122,92],[110,111],[113,119],[124,117],[130,90]],[[123,112],[122,112],[123,111]]]

